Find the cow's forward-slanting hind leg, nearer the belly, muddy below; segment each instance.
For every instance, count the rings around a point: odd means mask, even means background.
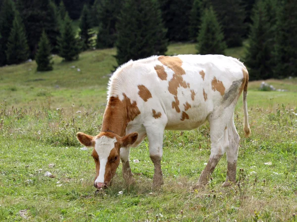
[[[204,187],[210,179],[210,174],[213,172],[215,166],[229,146],[228,139],[228,124],[232,117],[233,111],[226,109],[225,112],[212,113],[209,118],[210,125],[210,139],[211,139],[211,153],[207,165],[201,172],[198,183],[195,188]]]

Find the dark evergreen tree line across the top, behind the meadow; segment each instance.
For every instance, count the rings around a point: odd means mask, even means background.
[[[120,65],[130,59],[164,55],[168,42],[195,42],[198,53],[203,55],[224,54],[227,47],[243,46],[248,39],[244,61],[250,79],[296,76],[294,0],[0,3],[0,65],[20,63],[30,57],[36,59],[39,70],[50,70],[51,54],[70,61],[93,47],[116,47]],[[77,35],[72,19],[78,18]],[[98,27],[98,33],[93,27]]]

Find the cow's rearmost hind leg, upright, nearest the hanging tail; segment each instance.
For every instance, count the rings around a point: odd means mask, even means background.
[[[235,128],[233,118],[229,122],[228,126],[228,136],[229,136],[229,146],[226,148],[227,155],[227,177],[223,186],[229,186],[230,182],[236,182],[236,166],[237,166],[237,156],[240,137]]]

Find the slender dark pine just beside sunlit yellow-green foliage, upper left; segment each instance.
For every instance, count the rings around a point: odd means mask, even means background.
[[[81,38],[82,50],[85,51],[90,49],[93,45],[93,40],[92,40],[93,31],[91,29],[91,18],[90,18],[88,6],[86,4],[84,5],[83,11],[82,11],[79,27],[80,27],[79,36]]]

